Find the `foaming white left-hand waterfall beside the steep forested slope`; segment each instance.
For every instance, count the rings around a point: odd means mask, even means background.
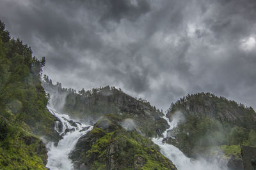
[[[71,160],[68,159],[68,154],[74,149],[78,139],[92,130],[92,126],[84,124],[76,124],[77,127],[72,126],[70,122],[67,121],[71,120],[68,115],[58,113],[56,110],[49,107],[48,109],[52,115],[60,119],[63,129],[61,129],[61,131],[58,131],[57,127],[55,129],[60,135],[63,135],[63,139],[59,141],[58,146],[54,146],[52,142],[47,144],[48,162],[46,167],[49,167],[51,170],[71,170],[73,166]],[[56,125],[58,125],[58,123],[56,123]],[[88,129],[81,131],[84,127],[88,127]],[[66,129],[74,129],[74,131],[65,134]]]

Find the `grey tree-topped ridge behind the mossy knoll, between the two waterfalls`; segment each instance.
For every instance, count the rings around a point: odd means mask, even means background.
[[[53,85],[47,76],[44,76],[42,85],[58,101],[58,104],[52,103],[54,108],[59,108],[74,118],[95,122],[111,113],[122,119],[130,118],[138,131],[147,137],[162,136],[169,127],[162,118],[163,112],[150,106],[147,101],[131,97],[115,87],[107,86],[76,93],[72,89],[63,89],[60,83]]]

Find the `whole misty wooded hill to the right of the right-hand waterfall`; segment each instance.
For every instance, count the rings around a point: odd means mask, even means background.
[[[222,159],[229,160],[229,167],[242,169],[239,145],[256,145],[255,111],[225,97],[188,95],[172,104],[166,115],[170,120],[177,116],[178,126],[164,141],[189,157],[222,155]]]

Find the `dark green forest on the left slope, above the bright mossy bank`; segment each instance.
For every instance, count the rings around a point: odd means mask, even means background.
[[[3,22],[0,22],[0,34],[1,116],[12,113],[38,136],[54,138],[54,118],[46,108],[48,96],[40,81],[45,58],[32,57],[30,47],[20,39],[10,39]]]

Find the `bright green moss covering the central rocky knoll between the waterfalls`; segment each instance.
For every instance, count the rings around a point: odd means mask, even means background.
[[[108,148],[111,146],[112,150],[115,150],[111,159],[121,169],[133,169],[137,157],[142,157],[145,160],[141,169],[175,169],[170,160],[159,153],[159,147],[154,145],[150,139],[143,138],[135,131],[127,132],[122,129],[106,133],[86,152],[86,159],[92,160],[90,165],[93,169],[106,169],[106,164],[110,159]],[[98,159],[95,160],[95,157]]]

